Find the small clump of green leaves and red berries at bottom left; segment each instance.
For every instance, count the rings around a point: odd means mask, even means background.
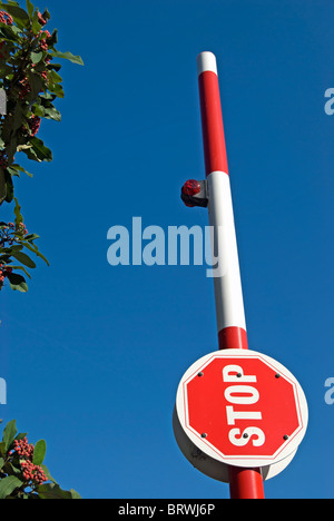
[[[0,442],[0,499],[81,499],[75,490],[62,490],[43,464],[47,444],[35,445],[9,422]]]

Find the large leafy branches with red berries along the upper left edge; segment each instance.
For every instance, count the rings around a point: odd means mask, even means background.
[[[56,49],[58,31],[47,29],[48,10],[40,12],[30,0],[0,1],[0,89],[6,92],[6,114],[0,115],[0,205],[14,206],[13,223],[0,222],[0,291],[8,281],[16,291],[27,292],[27,268],[35,268],[31,254],[48,260],[36,245],[37,234],[28,233],[21,207],[14,197],[13,178],[29,174],[17,157],[51,161],[52,153],[37,136],[43,118],[60,121],[56,98],[63,98],[61,65],[67,59],[84,65],[79,56]],[[24,156],[22,156],[24,155]],[[32,255],[32,257],[33,257]]]

